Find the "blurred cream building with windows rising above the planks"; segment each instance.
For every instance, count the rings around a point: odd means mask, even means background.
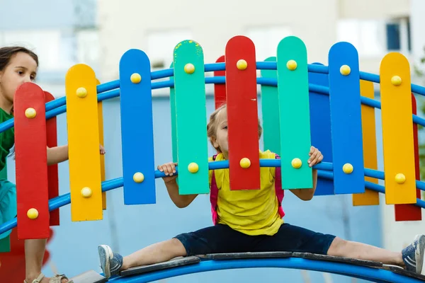
[[[412,60],[423,53],[422,2],[101,0],[103,78],[109,81],[118,76],[120,56],[130,48],[147,52],[156,67],[169,67],[173,47],[192,39],[203,47],[205,62],[215,62],[234,35],[254,41],[259,61],[276,55],[278,42],[287,35],[304,40],[310,63],[327,64],[331,45],[348,41],[358,49],[361,69],[378,73],[387,52],[402,52]]]

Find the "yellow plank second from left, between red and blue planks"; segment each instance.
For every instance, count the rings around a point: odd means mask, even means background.
[[[72,221],[100,220],[102,211],[96,76],[85,64],[65,77]]]

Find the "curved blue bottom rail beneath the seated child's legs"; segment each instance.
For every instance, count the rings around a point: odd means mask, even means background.
[[[417,283],[423,282],[420,279],[399,275],[390,270],[378,269],[375,267],[365,267],[361,265],[350,265],[343,262],[327,262],[322,260],[309,260],[305,258],[261,258],[261,259],[239,259],[239,260],[203,260],[193,265],[173,267],[166,270],[157,270],[142,275],[132,275],[128,277],[115,277],[109,279],[111,283],[141,283],[154,282],[160,279],[189,275],[198,272],[208,272],[214,270],[230,270],[240,268],[290,268],[299,270],[312,270],[319,272],[329,272],[336,275],[356,277],[358,279],[370,280],[373,282],[395,282],[395,283]]]

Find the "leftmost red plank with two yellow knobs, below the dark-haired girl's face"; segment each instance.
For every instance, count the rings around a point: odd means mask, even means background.
[[[45,93],[23,83],[13,98],[18,238],[48,238],[49,188]]]

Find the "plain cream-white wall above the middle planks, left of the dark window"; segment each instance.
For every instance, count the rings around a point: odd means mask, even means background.
[[[336,0],[276,1],[99,1],[102,74],[106,81],[118,77],[118,63],[130,48],[152,52],[148,38],[152,33],[190,33],[203,47],[205,62],[215,62],[234,35],[256,30],[290,30],[305,41],[309,61],[327,62],[327,51],[336,40]],[[283,38],[287,33],[282,32]],[[181,37],[169,44],[169,56]],[[257,43],[257,42],[254,42]],[[261,42],[259,42],[260,44]],[[276,45],[277,47],[277,45]],[[158,47],[164,48],[164,47]],[[276,53],[276,52],[275,52]],[[276,54],[269,54],[273,56]],[[263,57],[263,56],[262,56]],[[265,58],[259,58],[261,60]]]

